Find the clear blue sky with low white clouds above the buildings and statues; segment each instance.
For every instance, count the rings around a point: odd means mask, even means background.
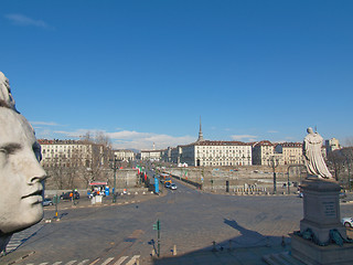
[[[3,0],[0,71],[39,138],[116,148],[353,138],[353,1]]]

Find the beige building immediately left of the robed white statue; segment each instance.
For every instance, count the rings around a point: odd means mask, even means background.
[[[276,145],[277,153],[284,155],[284,165],[302,165],[302,142],[281,142]]]

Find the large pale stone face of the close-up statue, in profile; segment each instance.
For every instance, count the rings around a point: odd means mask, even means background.
[[[36,160],[36,139],[25,118],[0,107],[0,231],[11,233],[42,219],[45,171]]]

